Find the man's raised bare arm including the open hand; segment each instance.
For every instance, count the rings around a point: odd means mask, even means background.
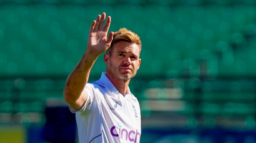
[[[103,12],[102,16],[98,15],[96,21],[92,22],[88,35],[87,49],[66,81],[63,96],[73,109],[81,109],[87,100],[87,92],[84,87],[89,79],[92,66],[98,56],[109,48],[113,40],[113,32],[110,32],[107,38],[111,18],[110,16],[107,18],[104,26],[105,19],[106,13]]]

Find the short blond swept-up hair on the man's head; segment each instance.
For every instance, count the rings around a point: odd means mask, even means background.
[[[114,44],[120,41],[135,43],[139,46],[141,51],[140,37],[126,28],[120,28],[118,31],[114,33],[113,40],[111,42],[110,47],[107,50],[107,53],[111,55]]]

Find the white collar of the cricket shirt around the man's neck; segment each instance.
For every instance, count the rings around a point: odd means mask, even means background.
[[[113,85],[113,83],[108,79],[106,72],[102,72],[101,73],[101,77],[99,79],[99,81],[105,86],[108,87],[110,89],[111,92],[113,93],[118,93],[118,90],[116,89],[116,87]],[[127,91],[126,94],[130,94],[130,88],[127,87]]]

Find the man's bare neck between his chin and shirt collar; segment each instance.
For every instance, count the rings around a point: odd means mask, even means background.
[[[111,73],[109,73],[108,71],[106,72],[106,75],[107,75],[108,79],[116,87],[118,92],[120,92],[122,95],[125,95],[131,79],[128,79],[128,80],[118,79],[118,78],[114,77]]]

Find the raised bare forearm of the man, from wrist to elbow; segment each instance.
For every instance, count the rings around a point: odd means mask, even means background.
[[[97,57],[98,56],[94,56],[88,51],[85,51],[79,63],[68,76],[63,94],[64,99],[69,104],[76,102],[76,100],[80,97],[89,79],[90,71]]]

